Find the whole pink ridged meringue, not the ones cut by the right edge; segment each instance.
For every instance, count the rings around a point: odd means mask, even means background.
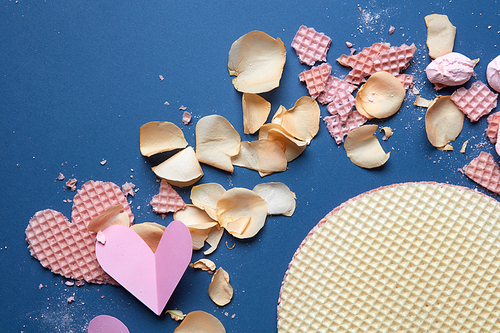
[[[457,52],[436,58],[425,69],[427,79],[434,83],[436,90],[445,86],[459,86],[469,81],[474,73],[472,60]]]

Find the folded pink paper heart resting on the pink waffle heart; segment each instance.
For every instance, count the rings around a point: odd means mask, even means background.
[[[160,315],[191,261],[193,245],[186,225],[171,222],[155,253],[137,233],[123,225],[110,226],[103,234],[104,244],[96,244],[101,267]]]

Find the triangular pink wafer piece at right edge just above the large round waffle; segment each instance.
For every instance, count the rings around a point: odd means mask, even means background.
[[[500,167],[491,154],[482,151],[463,170],[467,177],[482,187],[500,194]]]

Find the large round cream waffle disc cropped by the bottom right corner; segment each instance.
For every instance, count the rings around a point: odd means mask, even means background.
[[[278,331],[499,332],[500,205],[393,185],[334,209],[294,255]]]

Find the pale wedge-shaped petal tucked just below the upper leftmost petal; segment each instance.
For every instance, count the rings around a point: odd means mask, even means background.
[[[203,177],[203,170],[193,147],[184,148],[152,170],[158,177],[178,187],[193,185]]]

